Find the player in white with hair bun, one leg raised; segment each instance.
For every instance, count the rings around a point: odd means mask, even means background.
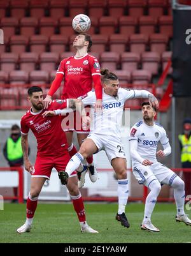
[[[66,167],[66,173],[71,175],[78,169],[83,159],[91,154],[104,150],[108,156],[118,179],[118,213],[116,220],[129,228],[129,222],[125,216],[125,206],[128,199],[127,167],[122,140],[120,136],[120,124],[126,100],[132,98],[148,98],[153,107],[159,107],[155,96],[145,90],[129,90],[119,88],[118,77],[108,70],[102,70],[103,76],[103,112],[95,112],[96,96],[90,91],[81,97],[84,105],[91,105],[90,134],[81,144],[78,153],[74,154]],[[50,112],[47,112],[47,115]],[[62,110],[55,110],[61,114]],[[54,113],[54,114],[55,114]],[[52,114],[52,113],[50,113]],[[66,176],[66,179],[67,177]],[[85,175],[81,173],[80,188],[85,183]]]

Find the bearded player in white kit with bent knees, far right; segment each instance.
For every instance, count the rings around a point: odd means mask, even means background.
[[[132,170],[139,184],[144,184],[150,189],[146,197],[145,213],[141,229],[159,232],[151,222],[153,209],[160,193],[161,184],[174,188],[176,201],[176,221],[191,225],[191,220],[185,215],[185,184],[179,176],[162,163],[157,162],[156,156],[163,158],[171,154],[171,146],[166,131],[154,122],[157,110],[149,102],[142,103],[143,121],[134,124],[129,140],[131,147]],[[157,144],[161,142],[164,150],[157,151]]]

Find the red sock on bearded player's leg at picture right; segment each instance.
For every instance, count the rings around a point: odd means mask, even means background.
[[[85,222],[85,209],[83,206],[83,200],[81,197],[81,193],[77,196],[71,195],[71,198],[73,199],[73,206],[74,210],[76,211],[78,215],[79,222]]]

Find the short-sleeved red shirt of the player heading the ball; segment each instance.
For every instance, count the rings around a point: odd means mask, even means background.
[[[94,56],[71,56],[63,59],[57,73],[64,75],[62,98],[78,98],[92,90],[92,76],[101,75],[99,62]]]

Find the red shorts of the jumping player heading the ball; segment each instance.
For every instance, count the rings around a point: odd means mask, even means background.
[[[88,106],[85,107],[88,109]],[[87,114],[88,115],[88,114]],[[62,130],[64,132],[76,131],[76,133],[90,133],[90,129],[83,130],[81,124],[81,117],[78,112],[69,112],[66,116],[61,116]]]

